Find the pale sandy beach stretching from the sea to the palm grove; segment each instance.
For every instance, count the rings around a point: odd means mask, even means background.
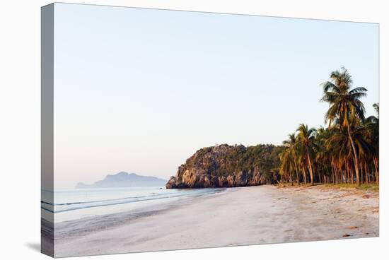
[[[141,213],[55,225],[54,254],[117,254],[377,237],[378,192],[270,185],[225,189]]]

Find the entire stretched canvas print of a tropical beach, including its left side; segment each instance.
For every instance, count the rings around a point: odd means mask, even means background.
[[[377,237],[378,24],[42,7],[42,252]]]

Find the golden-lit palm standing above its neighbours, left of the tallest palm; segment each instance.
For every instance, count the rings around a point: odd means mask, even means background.
[[[306,165],[310,175],[310,184],[313,185],[313,169],[310,153],[312,153],[313,142],[315,139],[316,130],[313,128],[308,129],[306,124],[300,124],[297,131],[297,143],[300,146],[300,151],[303,157],[306,158]]]

